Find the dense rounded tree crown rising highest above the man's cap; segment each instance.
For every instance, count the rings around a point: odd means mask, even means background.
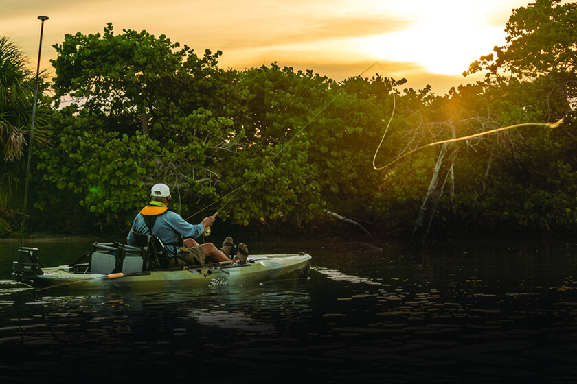
[[[216,67],[220,51],[213,55],[207,50],[199,58],[164,35],[123,32],[115,35],[109,23],[102,36],[67,34],[54,45],[56,97],[81,99],[78,105],[106,121],[106,130],[149,134],[152,129],[162,139],[161,130],[171,130],[198,108],[213,109],[214,99],[232,93],[221,81],[224,71]]]

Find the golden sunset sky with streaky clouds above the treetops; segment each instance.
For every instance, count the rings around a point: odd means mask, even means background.
[[[113,23],[122,29],[165,34],[202,55],[223,51],[223,69],[278,62],[312,69],[334,80],[376,73],[403,88],[433,87],[442,95],[463,77],[468,64],[505,43],[514,8],[530,0],[0,0],[0,36],[9,36],[36,68],[41,21],[41,69],[53,72],[52,45],[65,34],[91,34]],[[564,3],[567,1],[564,1]]]

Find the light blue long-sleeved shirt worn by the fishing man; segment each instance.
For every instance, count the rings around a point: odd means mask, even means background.
[[[164,206],[158,203],[154,205]],[[126,238],[128,245],[137,246],[136,235],[133,234],[133,231],[149,235],[148,227],[141,213],[136,215],[131,232],[128,232],[128,237]],[[181,235],[185,239],[188,237],[196,239],[203,231],[204,226],[202,224],[190,224],[180,217],[178,213],[174,213],[173,211],[166,211],[162,215],[158,215],[155,225],[152,227],[152,235],[158,237],[165,245],[179,243]],[[178,248],[176,245],[167,245],[166,250],[168,251],[168,256],[174,257],[178,252]]]

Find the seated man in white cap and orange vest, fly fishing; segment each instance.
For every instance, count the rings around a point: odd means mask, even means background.
[[[212,225],[214,217],[205,217],[200,224],[190,224],[168,208],[169,200],[168,185],[155,184],[152,187],[148,206],[142,208],[136,215],[131,232],[128,233],[128,245],[142,246],[143,236],[145,238],[147,235],[158,237],[166,250],[168,267],[205,264],[205,261],[212,263],[230,261],[226,253],[230,252],[231,247],[223,246],[225,251],[223,252],[218,250],[213,243],[199,244],[194,241],[194,238],[199,237],[206,227]],[[225,243],[232,243],[231,237],[227,237]],[[247,256],[247,245],[238,244],[238,252],[233,261],[244,263]]]

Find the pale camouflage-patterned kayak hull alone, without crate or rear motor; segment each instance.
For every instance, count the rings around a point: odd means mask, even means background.
[[[144,271],[133,274],[95,274],[73,272],[69,265],[43,268],[43,274],[23,283],[32,287],[69,289],[158,289],[170,287],[218,287],[261,283],[280,278],[306,278],[311,256],[263,254],[250,256],[244,264],[198,265],[181,269]]]

